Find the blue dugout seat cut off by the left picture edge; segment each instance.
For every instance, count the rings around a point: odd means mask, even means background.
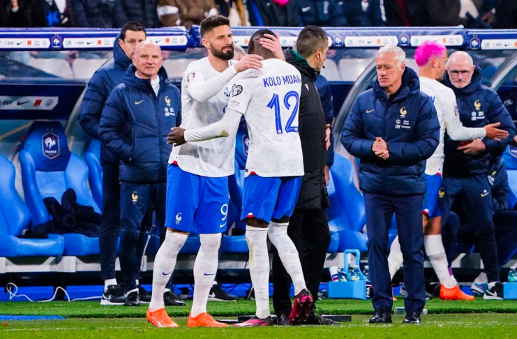
[[[29,225],[31,212],[15,189],[15,167],[0,156],[0,257],[63,255],[65,240],[50,234],[47,239],[17,238]]]

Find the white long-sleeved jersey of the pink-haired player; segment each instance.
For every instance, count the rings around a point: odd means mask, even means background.
[[[445,130],[453,140],[474,140],[486,135],[484,128],[467,128],[460,121],[458,104],[454,91],[444,84],[428,77],[419,77],[420,91],[426,93],[435,104],[438,121],[440,121],[440,144],[435,153],[428,158],[426,174],[442,174],[444,164],[444,135]]]

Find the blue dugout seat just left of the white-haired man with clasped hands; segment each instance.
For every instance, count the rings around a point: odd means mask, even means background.
[[[366,234],[361,230],[366,225],[364,197],[354,184],[354,165],[336,153],[329,181],[329,227],[339,233],[339,250],[357,249],[366,251]]]

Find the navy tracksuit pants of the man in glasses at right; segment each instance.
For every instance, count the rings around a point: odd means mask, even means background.
[[[464,209],[469,215],[477,236],[479,255],[483,259],[488,282],[499,281],[492,188],[486,174],[444,176],[442,186],[444,195],[438,199],[442,219],[444,222],[447,220],[454,199],[461,197]]]

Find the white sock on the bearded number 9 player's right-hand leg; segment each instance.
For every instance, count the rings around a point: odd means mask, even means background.
[[[221,234],[200,234],[201,247],[194,263],[194,299],[191,317],[207,312],[207,301],[219,262]]]

